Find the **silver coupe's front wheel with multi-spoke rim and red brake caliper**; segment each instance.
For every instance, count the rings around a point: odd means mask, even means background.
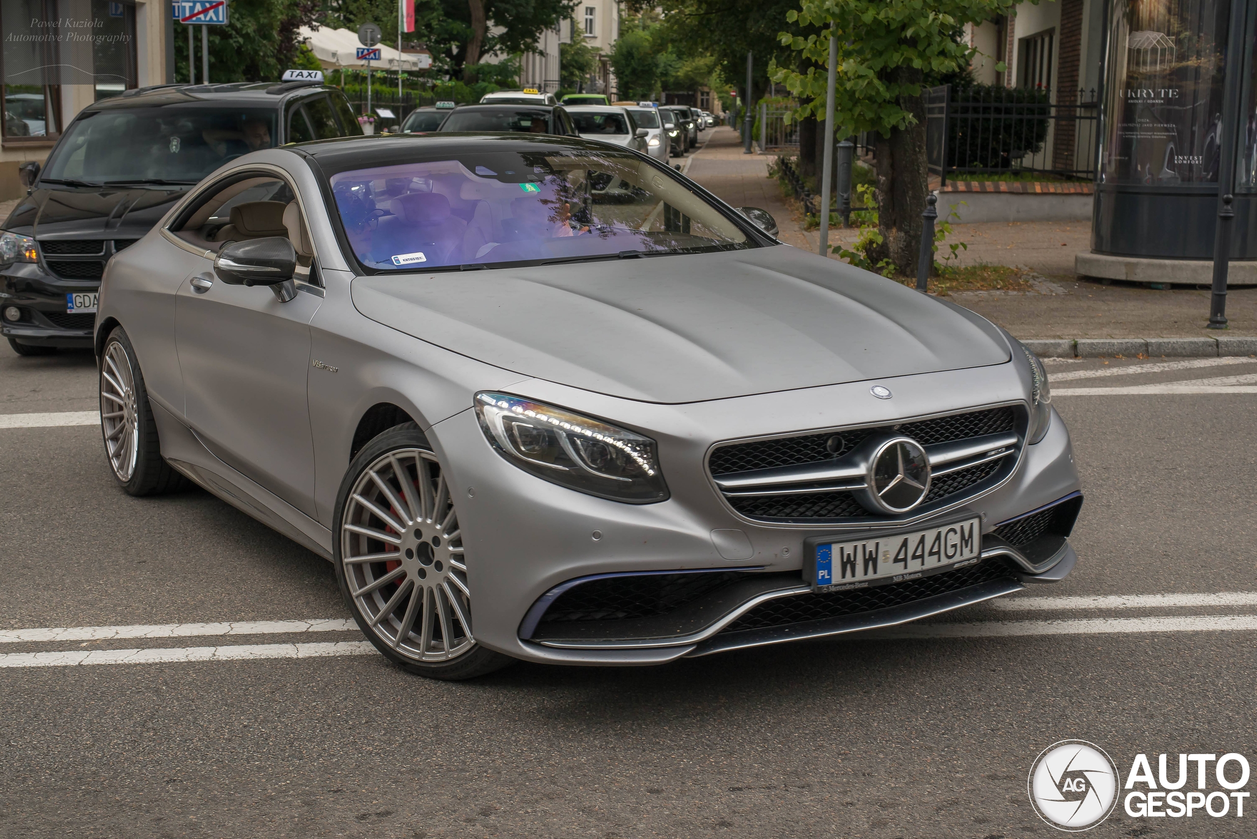
[[[336,502],[336,576],[353,619],[402,668],[446,681],[512,659],[471,632],[471,592],[450,486],[414,422],[367,443]]]

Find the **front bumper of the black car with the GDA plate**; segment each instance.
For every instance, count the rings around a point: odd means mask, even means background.
[[[65,295],[99,288],[99,280],[62,280],[35,263],[15,263],[0,271],[0,308],[18,306],[23,317],[16,323],[0,317],[0,335],[24,344],[89,349],[96,318],[69,315]]]

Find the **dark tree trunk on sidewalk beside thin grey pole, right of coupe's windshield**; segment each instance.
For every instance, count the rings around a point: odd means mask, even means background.
[[[896,68],[895,82],[920,83],[921,72]],[[915,122],[906,128],[877,134],[877,229],[885,240],[870,249],[875,263],[889,259],[895,270],[916,276],[921,247],[921,211],[929,173],[925,168],[925,100],[920,95],[900,97],[899,107]]]

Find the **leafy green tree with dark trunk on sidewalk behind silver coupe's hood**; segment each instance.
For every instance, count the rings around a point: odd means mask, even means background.
[[[921,210],[925,207],[925,103],[929,78],[968,67],[977,50],[958,33],[1004,14],[1013,0],[802,0],[787,21],[817,28],[807,36],[779,35],[782,45],[802,57],[776,68],[801,102],[797,116],[825,118],[830,34],[838,40],[835,122],[838,138],[877,133],[877,211],[882,244],[870,255],[890,259],[906,275],[916,274]],[[798,69],[793,69],[793,68]],[[823,132],[821,132],[823,134]]]

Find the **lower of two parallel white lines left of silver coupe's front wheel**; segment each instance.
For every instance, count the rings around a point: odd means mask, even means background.
[[[72,649],[57,653],[4,653],[4,667],[69,667],[77,664],[170,664],[177,662],[256,661],[261,658],[326,658],[370,656],[378,651],[367,641],[321,644],[241,644],[238,647],[182,647],[173,649]]]

